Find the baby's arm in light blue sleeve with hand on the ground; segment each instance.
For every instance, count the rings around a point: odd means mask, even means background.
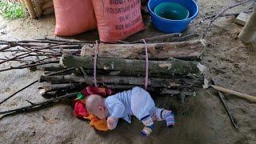
[[[114,130],[114,128],[118,125],[118,118],[122,118],[125,111],[125,106],[122,104],[122,102],[114,102],[113,107],[113,113],[110,115],[110,117],[107,118],[106,121],[107,127],[110,130]]]

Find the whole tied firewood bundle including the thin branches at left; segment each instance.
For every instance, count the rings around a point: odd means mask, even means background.
[[[198,66],[203,42],[190,40],[193,34],[166,34],[142,41],[98,44],[97,82],[113,90],[127,90],[145,85],[146,53],[149,55],[148,89],[156,94],[193,95],[201,87],[203,78]],[[168,39],[169,42],[162,42]],[[155,43],[157,41],[158,43]],[[153,43],[152,43],[153,42]],[[95,42],[37,39],[30,41],[2,41],[1,52],[11,57],[1,62],[21,62],[1,71],[30,68],[43,70],[39,92],[46,98],[78,92],[94,84]]]

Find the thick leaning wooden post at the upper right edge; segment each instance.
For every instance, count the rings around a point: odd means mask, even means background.
[[[246,26],[243,27],[238,38],[242,42],[250,43],[256,41],[256,7],[254,8],[253,13],[250,15],[249,21],[246,23]]]

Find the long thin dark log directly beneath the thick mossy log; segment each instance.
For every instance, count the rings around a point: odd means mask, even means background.
[[[102,84],[118,84],[131,86],[144,86],[144,78],[141,77],[122,77],[122,76],[98,76],[98,83]],[[81,77],[75,75],[55,75],[55,76],[41,76],[40,82],[51,83],[69,83],[69,82],[83,82],[87,85],[93,85],[93,77]],[[190,78],[150,78],[149,87],[192,87],[202,86],[202,81]]]

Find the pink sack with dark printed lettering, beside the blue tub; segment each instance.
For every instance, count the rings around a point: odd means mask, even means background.
[[[93,0],[99,38],[114,42],[144,30],[140,0]]]

